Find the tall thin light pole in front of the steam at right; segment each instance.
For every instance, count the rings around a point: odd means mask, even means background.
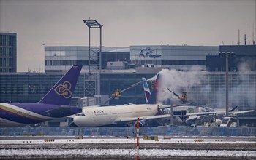
[[[226,116],[228,116],[228,58],[234,57],[235,52],[219,52],[221,57],[226,58],[226,76],[225,76],[225,89],[226,89]]]

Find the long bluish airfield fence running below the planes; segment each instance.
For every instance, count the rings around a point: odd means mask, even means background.
[[[0,136],[113,136],[133,137],[135,127],[15,127],[0,128]],[[256,136],[256,127],[140,127],[142,135]]]

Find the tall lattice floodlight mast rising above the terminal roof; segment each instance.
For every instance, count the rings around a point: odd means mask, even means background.
[[[89,28],[89,76],[97,72],[97,95],[100,95],[100,74],[102,73],[102,26],[97,20],[83,20]],[[91,47],[91,28],[99,28],[99,47]],[[96,91],[96,89],[94,89]]]

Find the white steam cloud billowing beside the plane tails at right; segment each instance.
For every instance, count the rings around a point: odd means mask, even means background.
[[[253,73],[248,71],[248,60],[239,64],[239,73],[230,72],[229,105],[238,105],[240,110],[255,109],[256,80]],[[211,108],[225,108],[225,74],[206,73],[198,66],[189,71],[163,69],[161,74],[157,100],[160,103],[179,104],[180,100],[173,95],[169,88],[178,95],[188,92],[188,100]],[[211,76],[212,75],[212,76]],[[211,82],[210,82],[211,81]],[[215,81],[215,82],[214,82]],[[214,83],[212,83],[214,82]],[[246,108],[244,108],[244,107]],[[248,108],[249,107],[249,108]]]

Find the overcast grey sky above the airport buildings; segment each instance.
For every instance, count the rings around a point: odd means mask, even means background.
[[[3,1],[0,30],[17,33],[18,72],[44,70],[44,47],[87,46],[97,20],[102,45],[210,45],[252,41],[256,1]],[[246,27],[247,26],[247,27]],[[94,33],[97,31],[96,33]],[[98,36],[94,30],[92,36]],[[91,39],[97,45],[97,39]]]

